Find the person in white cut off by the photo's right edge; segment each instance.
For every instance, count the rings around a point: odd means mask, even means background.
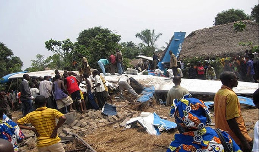
[[[257,89],[254,94],[253,94],[253,102],[256,105],[256,108],[259,108],[259,94]],[[254,127],[254,144],[253,144],[253,149],[252,152],[258,152],[259,151],[259,141],[258,141],[258,134],[259,134],[259,129],[258,129],[258,121],[255,124]]]

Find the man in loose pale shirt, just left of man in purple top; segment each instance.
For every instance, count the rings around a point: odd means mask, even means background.
[[[48,108],[55,109],[54,102],[51,99],[51,84],[53,83],[49,81],[48,76],[44,76],[43,79],[44,80],[40,82],[40,86],[39,86],[40,95],[46,98]]]

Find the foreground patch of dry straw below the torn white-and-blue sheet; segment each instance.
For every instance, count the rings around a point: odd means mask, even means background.
[[[173,138],[172,133],[162,133],[160,136],[149,135],[143,128],[124,129],[106,127],[87,135],[84,140],[98,152],[152,152],[163,147],[164,150]]]

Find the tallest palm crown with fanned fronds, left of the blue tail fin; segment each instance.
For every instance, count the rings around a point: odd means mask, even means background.
[[[152,30],[152,32],[149,29],[145,29],[145,30],[142,30],[140,33],[137,33],[135,37],[142,40],[149,47],[156,48],[155,42],[161,35],[163,34],[162,33],[155,34],[154,29]]]

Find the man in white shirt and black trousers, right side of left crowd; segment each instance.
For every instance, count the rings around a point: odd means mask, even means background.
[[[104,84],[97,70],[93,71],[93,77],[95,79],[95,84],[94,84],[95,86],[93,86],[92,89],[96,88],[98,106],[102,108],[106,102],[106,98],[105,98],[106,91],[104,88]]]

